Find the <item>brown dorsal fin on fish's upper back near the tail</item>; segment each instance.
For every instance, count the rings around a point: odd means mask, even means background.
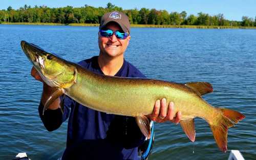
[[[185,85],[190,89],[193,89],[200,96],[214,91],[212,85],[208,82],[188,82],[185,83]]]

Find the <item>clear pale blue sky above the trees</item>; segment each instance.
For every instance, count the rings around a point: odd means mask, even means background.
[[[93,7],[105,7],[107,3],[112,3],[123,9],[140,9],[140,8],[155,8],[157,10],[167,10],[170,12],[186,11],[187,14],[197,15],[199,12],[216,15],[223,13],[226,19],[241,20],[242,16],[256,16],[256,1],[255,0],[130,0],[130,1],[82,1],[82,0],[2,0],[0,9],[7,9],[11,6],[13,9],[18,9],[25,4],[31,7],[37,5],[46,5],[50,8],[65,7],[67,5],[73,7],[82,7],[89,5]]]

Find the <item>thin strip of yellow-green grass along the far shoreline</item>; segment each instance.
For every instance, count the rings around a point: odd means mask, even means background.
[[[55,24],[55,23],[28,23],[28,22],[2,22],[3,25],[49,25],[49,26],[90,26],[97,27],[99,24]],[[256,27],[234,26],[188,26],[188,25],[131,25],[134,28],[197,28],[197,29],[256,29]]]

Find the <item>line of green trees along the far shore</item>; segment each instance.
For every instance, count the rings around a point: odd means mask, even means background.
[[[84,5],[80,8],[72,6],[62,8],[49,8],[47,6],[25,5],[17,10],[8,7],[7,10],[0,10],[0,22],[43,22],[57,24],[99,24],[101,16],[110,11],[124,12],[130,18],[131,24],[141,25],[198,25],[198,26],[256,26],[256,16],[251,18],[243,16],[241,21],[227,20],[223,14],[210,16],[207,13],[187,15],[185,11],[168,13],[166,10],[141,8],[123,10],[111,3],[105,8]]]

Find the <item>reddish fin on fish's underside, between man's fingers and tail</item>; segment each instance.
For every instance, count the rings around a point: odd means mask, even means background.
[[[186,133],[189,140],[191,140],[192,142],[195,142],[196,131],[195,131],[194,118],[188,119],[188,120],[181,120],[180,125],[181,125],[183,131]]]

